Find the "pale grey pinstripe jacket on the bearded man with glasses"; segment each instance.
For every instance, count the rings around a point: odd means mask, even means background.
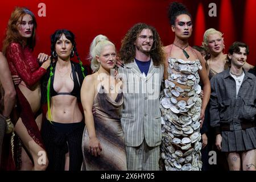
[[[126,146],[139,146],[143,139],[150,147],[158,146],[162,139],[159,94],[163,66],[154,66],[151,60],[145,77],[134,61],[120,67],[118,73],[123,81],[121,123]]]

